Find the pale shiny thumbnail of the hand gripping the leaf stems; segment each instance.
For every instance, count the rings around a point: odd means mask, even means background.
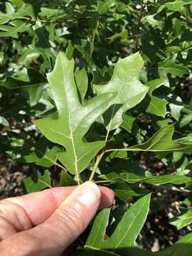
[[[74,196],[85,206],[91,208],[100,200],[101,192],[95,183],[86,181],[74,191]]]

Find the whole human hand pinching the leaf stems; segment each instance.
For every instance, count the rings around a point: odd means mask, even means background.
[[[61,255],[87,228],[98,208],[111,206],[109,188],[87,181],[0,201],[0,252]]]

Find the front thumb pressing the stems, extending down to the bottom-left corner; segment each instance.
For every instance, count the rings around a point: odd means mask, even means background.
[[[11,242],[11,252],[24,248],[22,255],[60,255],[85,230],[100,200],[101,191],[95,183],[82,184],[44,223],[1,242],[1,251]]]

